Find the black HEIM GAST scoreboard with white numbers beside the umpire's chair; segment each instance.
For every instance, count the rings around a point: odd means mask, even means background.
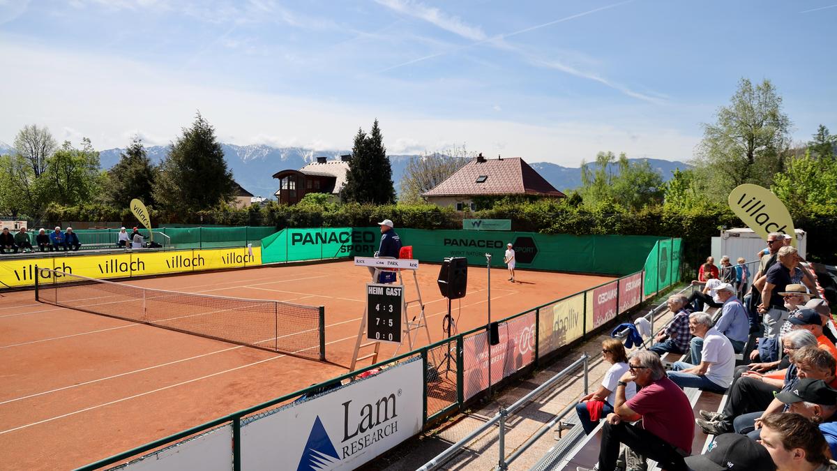
[[[367,339],[401,343],[404,287],[367,283]]]

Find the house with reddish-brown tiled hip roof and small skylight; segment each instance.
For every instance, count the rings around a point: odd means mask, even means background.
[[[480,153],[434,189],[422,194],[429,203],[475,210],[475,196],[540,195],[566,198],[522,158],[487,159]]]

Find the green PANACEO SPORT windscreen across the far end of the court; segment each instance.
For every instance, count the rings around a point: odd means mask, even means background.
[[[506,243],[511,242],[521,268],[561,272],[624,275],[637,272],[660,237],[646,235],[545,235],[535,232],[396,229],[403,246],[413,246],[413,258],[441,262],[464,256],[471,265],[505,267]],[[380,229],[285,229],[262,241],[262,262],[321,260],[372,256]],[[670,244],[670,239],[665,239]]]

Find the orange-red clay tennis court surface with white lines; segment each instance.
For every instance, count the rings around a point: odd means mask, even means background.
[[[453,301],[459,332],[486,322],[485,268],[469,272],[467,296]],[[434,264],[418,272],[433,341],[443,338],[447,311],[438,273]],[[409,300],[415,289],[406,275]],[[613,279],[521,270],[517,282],[507,277],[491,271],[493,320]],[[75,468],[347,373],[368,281],[352,261],[126,281],[324,305],[330,363],[37,303],[31,291],[0,294],[0,467]],[[383,344],[378,360],[394,350]],[[407,350],[405,343],[399,352]]]

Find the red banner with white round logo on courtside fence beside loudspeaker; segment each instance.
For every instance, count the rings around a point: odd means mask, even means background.
[[[491,383],[494,384],[526,365],[535,356],[535,313],[499,325],[500,343],[491,346]],[[488,335],[465,338],[462,352],[463,394],[467,401],[488,389]]]

